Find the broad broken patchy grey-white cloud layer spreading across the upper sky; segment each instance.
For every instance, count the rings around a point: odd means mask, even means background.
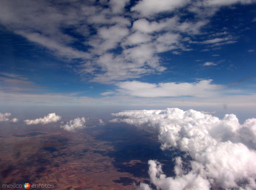
[[[201,28],[207,25],[210,16],[220,6],[235,3],[253,1],[142,0],[131,8],[132,12],[125,12],[129,0],[99,1],[97,5],[94,1],[59,4],[53,1],[26,0],[21,3],[3,0],[0,2],[0,22],[59,58],[79,62],[73,69],[82,78],[86,75],[86,79],[93,82],[115,83],[164,72],[166,68],[161,64],[160,53],[171,51],[178,54],[191,50],[188,41],[183,40],[184,36],[194,38],[203,34]],[[175,12],[180,8],[195,13],[195,18],[180,19],[180,11]],[[165,11],[174,14],[154,20],[155,14]],[[72,31],[67,33],[66,29]],[[228,32],[221,34],[228,35]],[[235,43],[232,39],[228,35],[201,44],[221,46]],[[77,49],[74,42],[85,46]]]

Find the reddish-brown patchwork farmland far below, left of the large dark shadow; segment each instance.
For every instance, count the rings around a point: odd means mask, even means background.
[[[121,164],[131,168],[136,163],[147,164],[146,161],[117,163],[115,158],[106,156],[115,151],[112,143],[95,138],[105,129],[90,130],[89,134],[86,130],[69,133],[50,125],[24,125],[19,130],[1,126],[1,183],[29,182],[54,184],[55,189],[114,190],[136,189],[135,184],[148,180],[147,176],[134,176],[116,167]]]

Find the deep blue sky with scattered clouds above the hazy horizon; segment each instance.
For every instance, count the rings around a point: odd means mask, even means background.
[[[0,4],[1,105],[256,104],[253,0]]]

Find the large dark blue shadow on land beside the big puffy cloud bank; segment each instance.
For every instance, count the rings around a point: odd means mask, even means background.
[[[99,153],[114,158],[113,164],[118,168],[118,172],[128,172],[135,177],[148,178],[148,160],[158,160],[164,165],[164,173],[167,176],[174,176],[175,163],[172,159],[184,153],[179,150],[161,150],[157,135],[124,123],[113,123],[104,126],[103,129],[103,133],[94,136],[100,141],[110,142],[115,151]],[[131,160],[139,160],[139,162],[129,163]]]

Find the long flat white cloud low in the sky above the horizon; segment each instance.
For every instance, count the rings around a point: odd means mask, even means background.
[[[126,81],[117,84],[122,94],[138,97],[210,97],[223,88],[222,85],[211,84],[212,80],[201,80],[195,83],[143,83]]]

